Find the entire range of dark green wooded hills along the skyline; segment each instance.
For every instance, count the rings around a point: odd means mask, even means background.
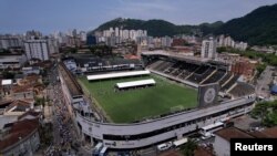
[[[101,24],[94,31],[115,27],[147,30],[148,35],[152,37],[228,34],[236,41],[246,41],[249,44],[277,44],[277,4],[260,7],[242,18],[229,20],[226,23],[217,21],[199,25],[176,25],[164,20],[144,21],[117,18]]]

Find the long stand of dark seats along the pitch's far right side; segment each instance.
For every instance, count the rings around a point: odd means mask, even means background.
[[[171,62],[166,60],[156,60],[148,65],[154,71],[186,80],[196,84],[208,84],[218,82],[220,91],[226,92],[236,84],[239,75],[227,72],[226,69],[214,65],[198,65],[183,61]]]

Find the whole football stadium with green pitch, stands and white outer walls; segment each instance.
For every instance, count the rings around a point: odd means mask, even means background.
[[[61,62],[59,77],[92,145],[126,149],[181,138],[244,115],[255,102],[254,87],[219,62],[163,52],[142,53],[141,62],[83,58]]]

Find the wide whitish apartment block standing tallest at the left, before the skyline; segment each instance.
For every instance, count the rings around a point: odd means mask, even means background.
[[[31,59],[49,60],[50,51],[47,40],[28,40],[24,42],[28,61]]]

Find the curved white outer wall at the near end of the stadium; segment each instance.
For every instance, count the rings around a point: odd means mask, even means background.
[[[226,121],[248,113],[253,108],[255,96],[246,96],[206,108],[183,112],[144,123],[113,124],[90,121],[79,113],[76,122],[81,131],[91,141],[96,139],[110,148],[138,148],[173,137],[182,137],[199,127],[216,121]],[[161,132],[163,129],[168,129]]]

